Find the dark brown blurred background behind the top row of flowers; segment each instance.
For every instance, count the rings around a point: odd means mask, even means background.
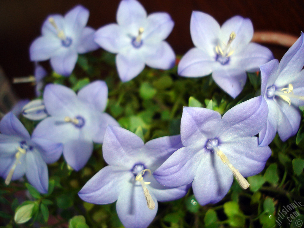
[[[303,0],[141,0],[147,13],[168,12],[175,22],[168,42],[176,54],[185,54],[193,47],[190,36],[192,10],[212,15],[220,24],[234,15],[251,19],[255,30],[280,31],[299,36],[304,30]],[[88,25],[99,27],[116,22],[119,0],[0,0],[0,66],[12,81],[13,77],[33,74],[29,46],[40,36],[47,15],[65,14],[77,4],[90,10]],[[288,48],[267,45],[280,59]],[[33,97],[30,86],[14,85],[19,97]]]

